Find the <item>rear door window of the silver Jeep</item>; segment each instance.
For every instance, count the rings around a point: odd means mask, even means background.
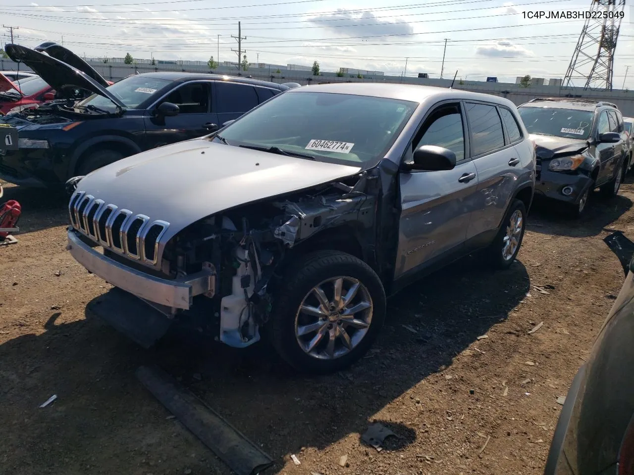
[[[504,132],[495,106],[467,103],[467,119],[471,128],[471,155],[477,156],[504,146]]]

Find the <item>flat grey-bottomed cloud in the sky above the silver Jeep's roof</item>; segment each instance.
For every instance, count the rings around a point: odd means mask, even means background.
[[[404,20],[387,21],[377,18],[371,11],[359,15],[346,9],[338,9],[337,13],[312,16],[308,22],[341,36],[406,35],[414,32],[410,23]]]

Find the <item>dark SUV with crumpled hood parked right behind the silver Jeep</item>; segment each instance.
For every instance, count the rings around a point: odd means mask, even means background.
[[[536,146],[537,198],[566,203],[578,216],[594,189],[607,197],[618,194],[630,157],[616,105],[539,98],[517,110]]]

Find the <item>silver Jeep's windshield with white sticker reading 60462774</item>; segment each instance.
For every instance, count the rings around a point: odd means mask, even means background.
[[[277,147],[323,162],[382,158],[418,103],[398,99],[285,92],[221,132],[230,145]]]

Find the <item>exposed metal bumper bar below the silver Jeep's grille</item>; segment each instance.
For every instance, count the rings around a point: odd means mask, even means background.
[[[72,229],[68,230],[68,246],[72,257],[89,272],[115,287],[165,307],[188,310],[193,297],[212,293],[216,276],[211,270],[191,274],[186,279],[160,279],[122,265],[84,243]]]

